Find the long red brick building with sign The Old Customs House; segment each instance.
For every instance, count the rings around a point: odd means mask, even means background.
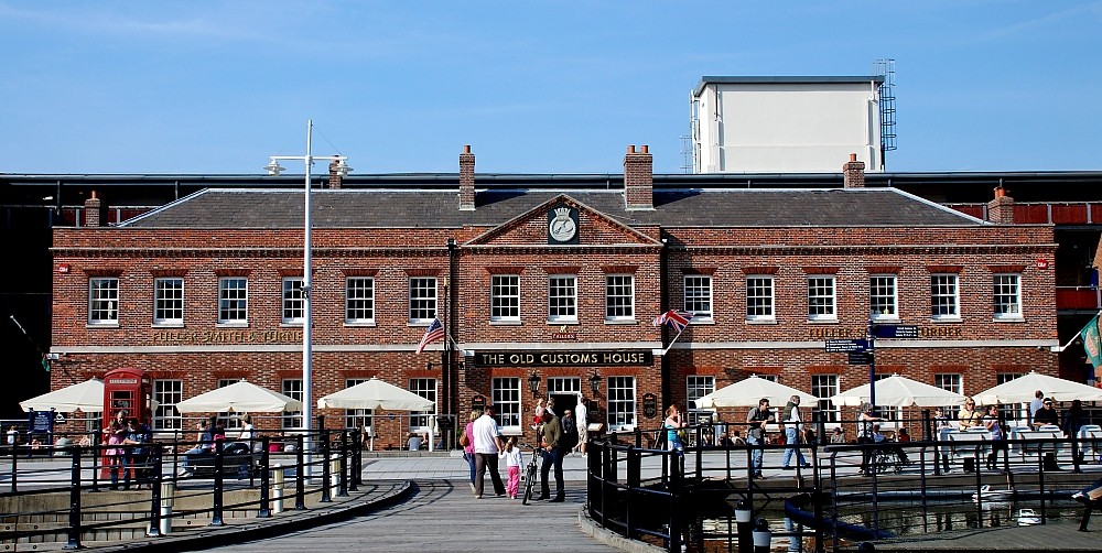
[[[655,427],[671,402],[752,373],[821,398],[867,381],[823,345],[864,337],[871,316],[919,332],[877,340],[878,373],[963,393],[1057,373],[1051,225],[866,188],[860,162],[833,189],[656,187],[646,147],[603,186],[483,182],[474,162],[461,154],[458,189],[334,176],[312,192],[313,404],[377,376],[440,415],[493,403],[520,433],[531,380],[568,405],[594,400],[591,422]],[[159,429],[181,425],[174,403],[240,378],[302,397],[302,191],[207,189],[119,226],[56,228],[51,353],[66,370],[52,388],[145,369]],[[671,308],[695,316],[663,355],[673,334],[651,321]],[[418,355],[434,318],[451,346]],[[389,444],[432,424],[320,414]]]

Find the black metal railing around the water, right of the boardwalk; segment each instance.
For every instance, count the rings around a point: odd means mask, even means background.
[[[1046,523],[1081,516],[1072,494],[1102,476],[1096,444],[1062,437],[803,443],[811,466],[792,460],[785,469],[778,460],[787,444],[670,452],[655,447],[656,432],[591,443],[587,510],[605,529],[670,551],[748,552],[755,538],[768,536],[787,540],[792,552],[821,552],[887,536]],[[764,455],[763,476],[750,464],[755,452]]]

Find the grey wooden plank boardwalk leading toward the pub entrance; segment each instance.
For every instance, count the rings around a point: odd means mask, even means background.
[[[568,482],[566,501],[530,502],[504,497],[475,499],[465,479],[415,480],[401,503],[343,522],[278,538],[223,545],[208,551],[622,551],[582,532],[577,512],[585,502],[582,482]],[[487,482],[489,486],[489,482]]]

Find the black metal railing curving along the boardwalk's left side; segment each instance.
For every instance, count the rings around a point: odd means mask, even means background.
[[[166,518],[208,525],[223,525],[227,511],[268,518],[284,505],[306,509],[307,497],[329,502],[363,484],[358,432],[274,440],[294,444],[293,452],[269,451],[272,436],[6,447],[0,478],[10,481],[0,492],[0,543],[63,541],[75,549],[89,535],[159,536],[172,529]]]

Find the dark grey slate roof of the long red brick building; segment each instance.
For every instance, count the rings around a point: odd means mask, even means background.
[[[894,188],[661,189],[655,209],[627,210],[623,188],[480,189],[474,212],[458,191],[328,189],[312,192],[315,228],[457,228],[496,226],[566,195],[628,226],[851,227],[975,226],[980,219]],[[301,191],[204,189],[122,223],[134,228],[301,228]]]

